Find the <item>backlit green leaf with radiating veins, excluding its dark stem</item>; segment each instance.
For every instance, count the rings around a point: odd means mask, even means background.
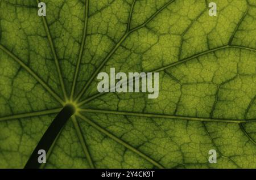
[[[0,0],[0,168],[68,103],[42,168],[256,168],[256,1],[45,2]],[[159,72],[159,97],[98,93],[110,67]]]

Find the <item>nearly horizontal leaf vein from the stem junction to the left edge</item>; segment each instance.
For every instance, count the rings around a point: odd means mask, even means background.
[[[49,115],[49,114],[55,114],[59,113],[62,108],[56,108],[56,109],[49,109],[49,110],[41,110],[38,112],[32,112],[32,113],[22,113],[22,114],[16,114],[16,115],[10,115],[6,117],[1,117],[1,121],[9,121],[13,119],[19,119],[19,118],[28,118],[28,117],[35,117],[35,116],[42,116],[42,115]]]

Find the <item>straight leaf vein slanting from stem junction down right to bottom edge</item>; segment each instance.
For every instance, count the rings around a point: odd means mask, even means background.
[[[81,114],[78,114],[78,116],[84,120],[85,122],[87,122],[90,126],[96,128],[96,130],[102,132],[103,134],[105,134],[106,136],[109,136],[109,138],[113,139],[115,142],[122,144],[123,146],[125,146],[127,149],[129,149],[130,151],[133,151],[134,153],[137,153],[137,155],[141,156],[142,158],[144,158],[145,160],[147,160],[148,162],[151,162],[151,164],[155,165],[158,168],[164,168],[164,166],[162,166],[161,164],[159,164],[158,162],[156,162],[155,160],[153,160],[151,157],[145,155],[144,153],[142,153],[141,151],[139,151],[138,149],[132,147],[130,144],[124,142],[123,140],[119,139],[117,136],[113,135],[112,133],[110,133],[109,131],[105,130],[103,127],[101,127],[100,125],[97,125],[95,122],[91,121],[90,119],[84,117]]]

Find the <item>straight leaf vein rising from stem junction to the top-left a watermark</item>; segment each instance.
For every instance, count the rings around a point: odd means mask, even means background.
[[[36,2],[39,3],[39,0],[36,0]],[[62,76],[61,70],[60,70],[59,60],[57,58],[57,54],[56,54],[56,51],[55,51],[55,48],[54,48],[54,45],[53,45],[51,33],[49,32],[49,27],[48,27],[47,19],[46,19],[45,16],[42,16],[42,18],[43,18],[44,29],[46,30],[46,34],[47,34],[47,37],[48,37],[49,45],[51,47],[51,51],[52,51],[53,58],[54,58],[54,61],[55,61],[55,65],[56,65],[56,68],[57,68],[57,74],[59,76],[59,81],[60,81],[61,89],[63,91],[64,98],[67,101],[67,92],[65,91],[65,86],[64,86],[64,82],[63,82],[63,76]]]

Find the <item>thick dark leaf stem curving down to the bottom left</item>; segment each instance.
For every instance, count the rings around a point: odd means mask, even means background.
[[[57,135],[59,134],[61,128],[65,125],[68,119],[75,113],[75,107],[71,104],[67,104],[64,108],[60,111],[60,113],[53,119],[51,125],[47,128],[46,132],[44,132],[43,137],[40,139],[38,145],[34,149],[30,159],[27,161],[27,164],[24,166],[24,169],[39,169],[40,164],[38,162],[38,151],[43,149],[47,152],[49,148],[51,148],[52,143],[56,139]]]

